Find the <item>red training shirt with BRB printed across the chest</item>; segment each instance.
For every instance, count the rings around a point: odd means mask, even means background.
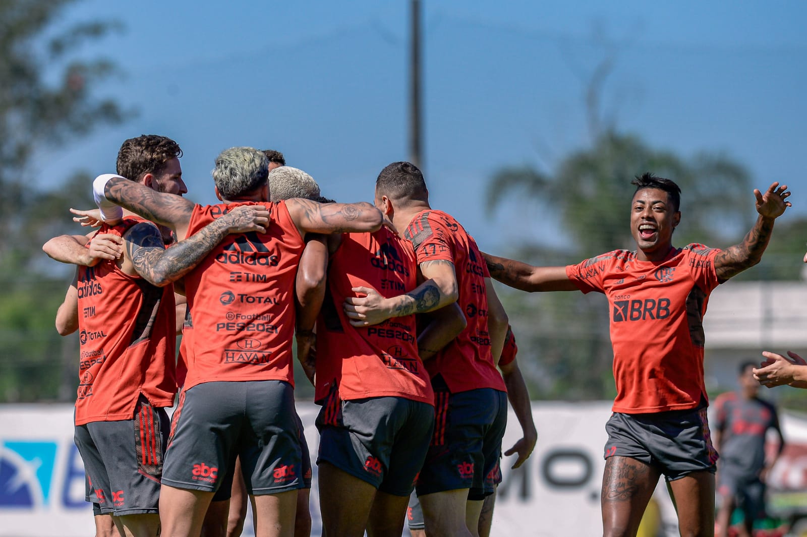
[[[717,287],[714,258],[703,244],[671,248],[659,262],[615,250],[569,265],[567,276],[583,293],[608,297],[613,411],[646,414],[686,410],[708,400],[704,386],[703,316]]]

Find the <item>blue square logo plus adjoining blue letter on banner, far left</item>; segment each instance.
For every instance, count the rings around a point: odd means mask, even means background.
[[[0,510],[88,510],[84,480],[72,441],[0,442]]]

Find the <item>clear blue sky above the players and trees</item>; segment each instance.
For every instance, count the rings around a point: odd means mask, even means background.
[[[759,187],[787,181],[795,209],[807,208],[804,2],[422,5],[426,181],[432,205],[483,249],[557,235],[534,204],[486,219],[484,187],[502,166],[551,170],[588,143],[584,81],[609,55],[603,110],[621,130],[684,156],[725,153]],[[47,181],[114,171],[123,139],[144,133],[179,142],[197,202],[215,201],[213,159],[234,145],[281,150],[339,201],[370,200],[378,171],[407,158],[405,0],[86,0],[60,24],[94,18],[123,31],[79,52],[120,66],[99,93],[138,114],[43,151],[36,171]]]

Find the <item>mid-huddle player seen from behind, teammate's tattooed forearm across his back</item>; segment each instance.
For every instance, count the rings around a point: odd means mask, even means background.
[[[332,235],[328,294],[317,322],[316,394],[322,405],[320,509],[325,535],[399,537],[409,494],[433,434],[434,393],[419,356],[465,328],[455,304],[417,337],[415,314],[433,309],[433,281],[417,285],[412,244],[387,227]],[[353,298],[406,293],[416,307],[375,326],[353,321]],[[337,306],[339,305],[339,306]],[[359,326],[353,326],[353,323]]]

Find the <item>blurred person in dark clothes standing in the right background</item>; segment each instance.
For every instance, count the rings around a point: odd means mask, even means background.
[[[728,537],[731,515],[740,507],[743,523],[739,537],[751,537],[754,521],[765,517],[765,481],[784,449],[776,406],[759,398],[759,382],[754,378],[755,363],[740,364],[738,392],[722,393],[715,401],[716,420],[713,441],[720,450],[717,465],[717,512],[719,537]],[[765,460],[768,429],[779,436],[776,456]]]

